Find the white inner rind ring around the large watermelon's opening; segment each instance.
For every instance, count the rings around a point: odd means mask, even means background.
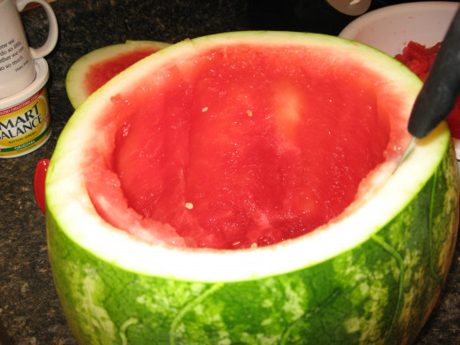
[[[97,114],[103,113],[112,95],[120,88],[136,85],[148,70],[165,67],[168,61],[191,56],[196,49],[219,44],[242,42],[266,42],[267,45],[295,44],[330,46],[363,56],[363,64],[373,65],[376,70],[387,71],[388,79],[401,87],[407,100],[408,117],[421,86],[401,64],[382,53],[356,42],[324,35],[296,33],[238,33],[213,35],[194,41],[180,42],[161,50],[119,74],[103,88],[96,91],[75,112],[58,141],[51,159],[46,181],[47,217],[55,219],[58,226],[74,242],[89,252],[129,271],[193,281],[251,280],[292,272],[315,265],[330,257],[356,247],[378,232],[418,195],[433,176],[449,148],[449,130],[441,124],[426,139],[418,142],[415,149],[387,182],[372,196],[364,196],[365,203],[347,212],[347,216],[311,234],[295,240],[257,249],[217,250],[183,249],[149,245],[135,239],[99,217],[86,191],[80,165],[86,164],[81,157],[81,145],[94,144],[97,135],[88,131],[93,128]],[[370,63],[368,63],[370,61]],[[378,63],[376,63],[378,61]],[[120,82],[123,80],[122,82]],[[99,129],[99,128],[98,128]]]

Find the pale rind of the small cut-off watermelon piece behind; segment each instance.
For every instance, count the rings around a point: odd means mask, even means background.
[[[104,60],[115,58],[117,55],[142,50],[143,48],[151,48],[153,50],[162,50],[170,44],[156,41],[126,41],[125,43],[113,44],[107,47],[99,48],[90,51],[82,56],[69,68],[65,76],[65,89],[67,96],[76,109],[80,103],[88,98],[88,93],[85,91],[85,80],[88,67],[94,64],[103,63]]]

